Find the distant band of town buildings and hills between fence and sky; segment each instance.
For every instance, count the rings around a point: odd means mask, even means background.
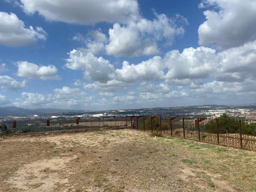
[[[12,109],[12,110],[10,110]],[[12,112],[14,111],[15,112]],[[65,117],[102,117],[102,116],[151,116],[156,114],[162,117],[188,116],[216,118],[226,113],[239,119],[256,120],[256,105],[227,106],[227,105],[199,105],[168,108],[142,108],[126,110],[86,111],[86,110],[61,110],[61,109],[35,109],[5,107],[0,108],[0,120],[11,119],[48,119]]]

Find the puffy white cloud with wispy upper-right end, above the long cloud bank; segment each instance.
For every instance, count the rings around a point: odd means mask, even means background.
[[[106,53],[116,57],[156,55],[160,53],[157,42],[164,40],[165,44],[171,45],[176,36],[184,34],[184,28],[177,24],[180,21],[187,24],[186,18],[180,15],[174,18],[164,14],[155,15],[153,20],[142,18],[123,26],[115,23],[113,29],[109,29]]]

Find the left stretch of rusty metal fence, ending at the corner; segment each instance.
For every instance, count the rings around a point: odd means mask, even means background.
[[[125,123],[125,116],[8,120],[0,122],[0,137],[121,129]]]

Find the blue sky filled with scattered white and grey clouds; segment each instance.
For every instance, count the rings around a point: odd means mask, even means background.
[[[1,0],[0,106],[256,103],[256,0]]]

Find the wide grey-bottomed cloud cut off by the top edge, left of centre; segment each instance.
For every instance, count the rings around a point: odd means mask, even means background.
[[[126,23],[140,18],[136,0],[20,0],[27,14],[38,12],[46,20],[65,23]]]

